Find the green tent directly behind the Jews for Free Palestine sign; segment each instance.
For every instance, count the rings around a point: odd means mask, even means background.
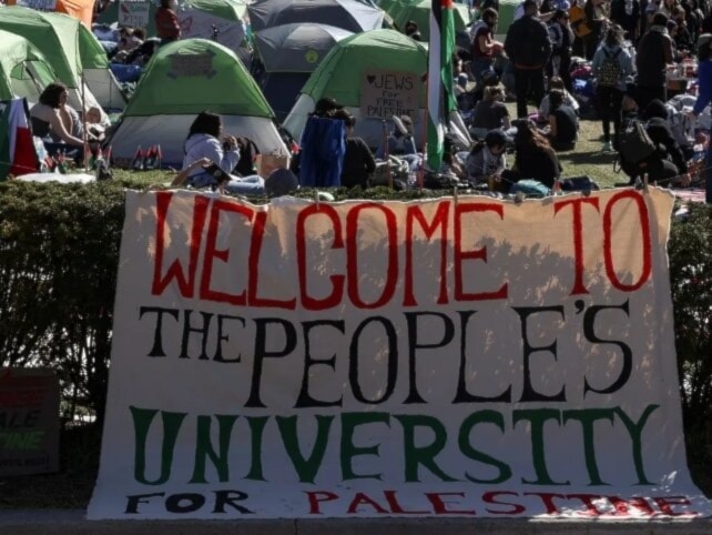
[[[418,134],[426,108],[426,84],[421,77],[427,71],[427,52],[423,43],[396,30],[372,30],[339,41],[309,77],[284,120],[284,128],[299,139],[316,101],[330,97],[358,119],[355,135],[364,138],[370,147],[378,145],[383,120],[362,113],[364,78],[374,71],[391,72],[400,79],[404,77],[399,73],[408,74],[408,83],[413,83],[417,91],[417,110],[414,110],[416,117],[413,120]]]

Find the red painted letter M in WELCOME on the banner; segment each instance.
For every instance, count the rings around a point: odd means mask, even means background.
[[[423,215],[419,205],[408,206],[406,215],[406,272],[404,286],[404,306],[416,306],[415,296],[413,295],[413,233],[414,223],[417,221],[425,233],[427,240],[431,240],[437,228],[440,228],[440,295],[438,304],[447,304],[447,223],[450,211],[449,202],[441,202],[438,205],[433,222],[428,224]]]

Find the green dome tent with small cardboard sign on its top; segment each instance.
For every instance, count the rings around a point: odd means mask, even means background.
[[[153,55],[112,138],[113,155],[130,164],[139,145],[161,145],[163,163],[181,165],[195,115],[218,113],[224,132],[252,139],[263,153],[287,149],[274,112],[235,52],[206,39],[165,44]]]

